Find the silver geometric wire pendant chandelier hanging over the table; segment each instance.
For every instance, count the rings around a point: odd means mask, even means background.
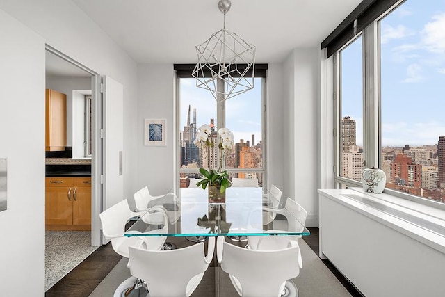
[[[196,86],[210,90],[217,101],[225,101],[254,87],[255,47],[225,29],[225,14],[230,6],[229,0],[218,2],[218,8],[224,13],[223,29],[196,46],[198,61],[192,73]]]

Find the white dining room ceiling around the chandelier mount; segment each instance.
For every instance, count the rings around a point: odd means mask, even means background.
[[[218,0],[72,0],[137,63],[196,63],[223,28]],[[362,0],[232,0],[226,29],[256,46],[256,63],[319,47]]]

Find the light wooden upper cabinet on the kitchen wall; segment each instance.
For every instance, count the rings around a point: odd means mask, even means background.
[[[67,95],[46,90],[45,150],[60,151],[67,146]]]

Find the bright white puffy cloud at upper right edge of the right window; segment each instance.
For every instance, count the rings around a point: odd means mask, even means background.
[[[422,42],[432,53],[445,53],[445,13],[432,17],[432,22],[423,26]]]

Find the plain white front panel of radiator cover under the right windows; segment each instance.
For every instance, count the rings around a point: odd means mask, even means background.
[[[318,192],[321,257],[364,296],[445,296],[443,250],[382,223],[386,214],[373,218],[364,214],[366,207]]]

